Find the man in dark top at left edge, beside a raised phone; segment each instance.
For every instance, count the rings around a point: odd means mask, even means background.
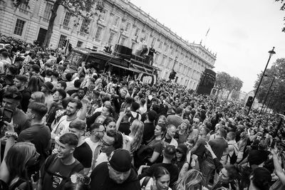
[[[31,122],[28,121],[27,115],[17,108],[21,102],[21,93],[18,88],[15,86],[11,86],[7,88],[4,93],[2,100],[2,108],[1,115],[3,115],[3,111],[5,108],[11,110],[13,112],[11,122],[14,125],[15,132],[20,134],[21,131],[31,126]]]

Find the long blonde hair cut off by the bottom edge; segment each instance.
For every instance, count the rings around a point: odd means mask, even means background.
[[[202,173],[197,169],[190,169],[182,178],[175,183],[177,190],[194,190],[202,189]]]

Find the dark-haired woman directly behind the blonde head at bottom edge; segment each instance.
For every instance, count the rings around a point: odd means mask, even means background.
[[[178,179],[182,178],[189,168],[189,162],[187,162],[187,150],[188,149],[185,144],[179,144],[176,149],[174,164],[178,167]]]

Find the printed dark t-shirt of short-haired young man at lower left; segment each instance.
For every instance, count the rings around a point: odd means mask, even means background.
[[[53,155],[51,155],[52,157]],[[46,164],[46,163],[45,163]],[[43,174],[42,190],[61,190],[66,183],[65,179],[70,178],[74,173],[83,171],[83,166],[78,160],[71,165],[64,165],[57,156],[53,159],[51,164],[45,169],[45,164],[41,167],[41,174]]]

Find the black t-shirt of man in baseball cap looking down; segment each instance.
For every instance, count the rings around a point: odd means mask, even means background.
[[[99,164],[93,169],[90,179],[90,189],[95,190],[140,190],[140,181],[133,169],[130,170],[130,176],[123,184],[117,184],[113,179],[110,179],[108,162]]]

